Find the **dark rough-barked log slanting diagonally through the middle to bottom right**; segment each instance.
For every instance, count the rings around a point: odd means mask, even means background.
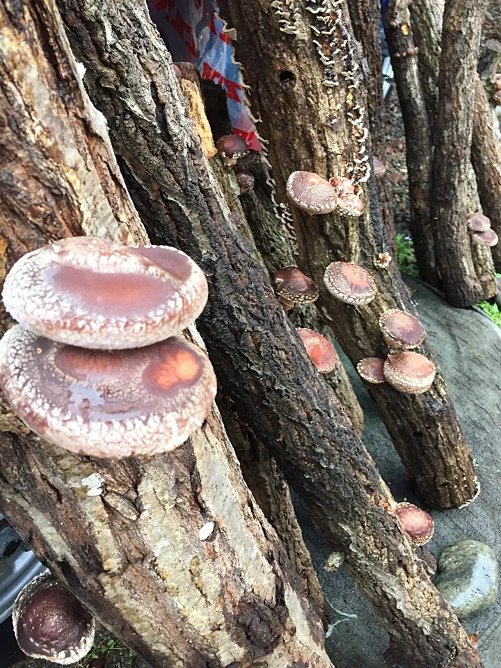
[[[124,5],[61,4],[72,44],[79,57],[86,54],[88,86],[109,120],[145,224],[155,240],[188,250],[205,269],[209,304],[199,323],[218,379],[239,417],[308,501],[331,544],[342,543],[354,580],[374,603],[406,666],[479,665],[466,633],[388,511],[374,462],[305,356],[248,242],[234,234],[186,110],[177,104],[157,32],[143,8]],[[119,40],[112,35],[124,34],[124,16],[134,17],[134,31],[127,30],[133,48],[120,49],[116,57]],[[134,107],[137,100],[140,109]],[[186,150],[174,150],[180,142]],[[182,176],[177,189],[175,175]],[[155,199],[152,178],[162,182]]]

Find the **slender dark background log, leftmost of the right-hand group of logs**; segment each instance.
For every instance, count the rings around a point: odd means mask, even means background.
[[[417,54],[406,4],[392,0],[385,32],[406,134],[406,162],[411,200],[411,234],[420,276],[438,287],[434,233],[429,216],[432,149]]]

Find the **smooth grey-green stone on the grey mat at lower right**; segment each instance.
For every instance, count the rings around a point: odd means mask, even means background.
[[[491,548],[477,541],[459,541],[438,559],[435,585],[459,617],[486,610],[498,596],[498,562]]]

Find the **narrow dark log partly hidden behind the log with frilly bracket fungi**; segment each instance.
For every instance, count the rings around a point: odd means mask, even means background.
[[[380,0],[348,0],[353,33],[360,42],[363,56],[367,61],[365,84],[367,86],[367,110],[369,112],[369,129],[372,138],[372,149],[376,158],[385,162],[386,143],[383,133],[384,100],[383,73],[381,66],[381,1]],[[377,181],[381,218],[388,231],[388,239],[392,247],[392,255],[396,256],[395,221],[393,220],[392,193],[388,179]]]

